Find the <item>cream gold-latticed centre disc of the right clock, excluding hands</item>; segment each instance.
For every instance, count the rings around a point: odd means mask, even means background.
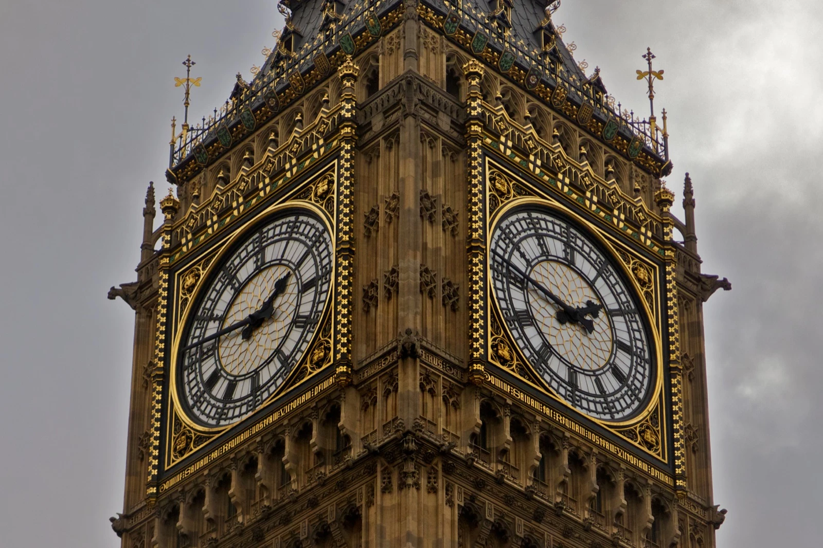
[[[599,297],[592,286],[571,267],[558,261],[538,262],[532,270],[532,278],[571,306],[578,307],[587,301],[597,303]],[[551,346],[580,369],[597,370],[606,367],[611,356],[611,322],[607,314],[592,318],[591,333],[574,323],[560,323],[556,305],[546,302],[537,290],[530,287],[529,307],[533,318]]]

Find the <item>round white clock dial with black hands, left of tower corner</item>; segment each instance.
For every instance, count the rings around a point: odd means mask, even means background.
[[[281,386],[318,327],[332,256],[323,221],[291,210],[213,267],[180,343],[179,395],[193,420],[229,425]]]

